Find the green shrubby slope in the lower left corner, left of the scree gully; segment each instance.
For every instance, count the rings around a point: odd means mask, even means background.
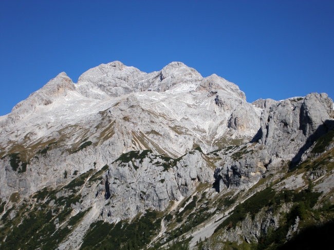
[[[88,174],[89,171],[77,179],[85,179]],[[76,185],[73,184],[73,186]],[[28,204],[27,200],[17,203],[20,200],[19,195],[17,192],[13,193],[9,200],[16,202],[16,204],[8,209],[2,217],[0,249],[46,250],[57,248],[58,244],[89,211],[82,211],[69,218],[73,211],[72,204],[80,202],[82,197],[81,194],[59,196],[61,190],[44,188],[36,192],[32,196],[36,199],[34,205]],[[0,204],[2,203],[0,202]],[[56,224],[61,224],[61,226],[57,228]]]

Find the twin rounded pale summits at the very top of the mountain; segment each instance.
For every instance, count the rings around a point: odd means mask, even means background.
[[[180,62],[147,74],[120,61],[102,64],[83,73],[77,90],[89,98],[105,99],[142,91],[163,92],[180,83],[198,84],[203,77]]]

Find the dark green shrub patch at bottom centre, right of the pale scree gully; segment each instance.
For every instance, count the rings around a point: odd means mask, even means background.
[[[90,225],[80,249],[142,249],[160,228],[161,218],[155,211],[116,225],[97,221]]]

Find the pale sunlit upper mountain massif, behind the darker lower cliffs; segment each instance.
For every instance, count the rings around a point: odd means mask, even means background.
[[[260,114],[236,85],[182,63],[147,74],[115,61],[77,84],[61,73],[0,117],[0,197],[59,185],[65,171],[84,173],[94,162],[101,168],[131,150],[177,158],[198,145],[210,152],[247,141]],[[11,154],[21,162],[15,171]]]

